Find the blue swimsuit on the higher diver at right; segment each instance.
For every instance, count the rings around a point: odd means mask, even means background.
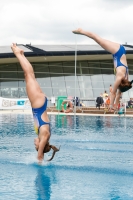
[[[125,51],[125,48],[122,45],[120,45],[119,50],[115,54],[113,54],[113,60],[114,60],[115,68],[120,67],[120,66],[123,66],[126,68],[126,74],[125,74],[125,77],[126,77],[126,75],[128,74],[128,66],[122,64],[120,61],[123,54],[126,54],[126,51]]]

